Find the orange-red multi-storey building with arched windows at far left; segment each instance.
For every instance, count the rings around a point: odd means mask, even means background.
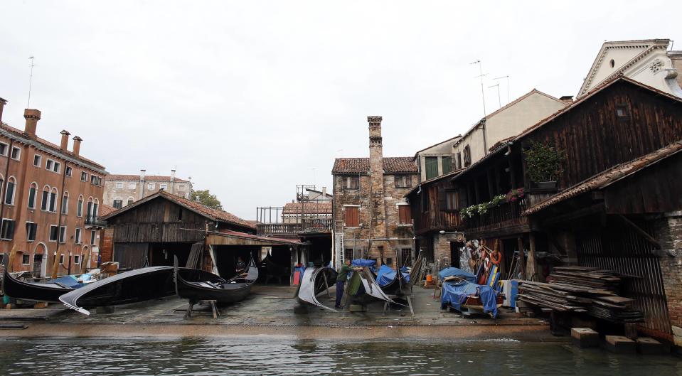
[[[0,99],[0,120],[4,104]],[[14,271],[46,276],[58,265],[55,274],[78,273],[97,260],[107,171],[80,156],[80,137],[68,149],[68,131],[58,145],[38,137],[37,109],[24,118],[23,130],[0,122],[0,253],[16,246]]]

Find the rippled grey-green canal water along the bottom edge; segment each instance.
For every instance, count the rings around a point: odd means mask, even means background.
[[[515,340],[0,339],[0,375],[682,376],[682,358]]]

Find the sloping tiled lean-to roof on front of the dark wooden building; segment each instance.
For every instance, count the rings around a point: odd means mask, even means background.
[[[627,176],[647,168],[658,161],[662,161],[669,156],[678,153],[679,151],[682,151],[682,141],[677,141],[676,143],[656,150],[653,153],[641,156],[634,161],[621,163],[607,171],[592,176],[592,178],[582,181],[582,183],[577,183],[575,186],[567,188],[560,193],[553,195],[547,200],[531,206],[531,208],[528,208],[528,210],[523,212],[523,215],[538,213],[540,210],[548,208],[551,205],[560,203],[563,200],[568,200],[569,198],[580,195],[581,193],[589,192],[590,190],[606,188],[612,183],[615,183],[622,178],[627,178]]]

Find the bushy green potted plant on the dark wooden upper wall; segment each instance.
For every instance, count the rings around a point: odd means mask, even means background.
[[[526,158],[526,171],[528,177],[540,189],[552,189],[557,187],[557,181],[563,169],[561,163],[565,160],[565,152],[531,140],[526,149],[523,149]]]

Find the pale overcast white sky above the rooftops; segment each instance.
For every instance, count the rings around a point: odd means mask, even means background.
[[[39,136],[80,136],[109,173],[175,168],[245,219],[297,184],[331,190],[335,158],[368,156],[369,115],[384,156],[467,131],[484,115],[474,61],[490,113],[533,88],[576,95],[604,41],[682,49],[682,1],[4,0],[0,14],[3,122],[23,129],[33,56]]]

